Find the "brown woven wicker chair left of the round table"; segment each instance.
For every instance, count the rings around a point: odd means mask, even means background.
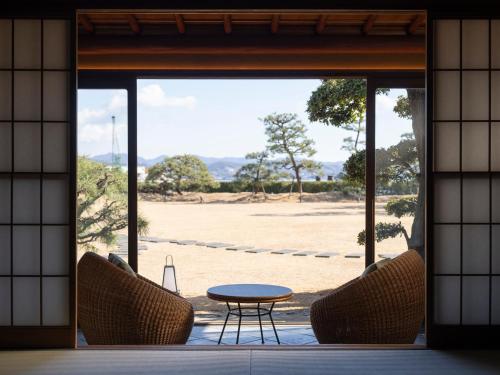
[[[185,344],[193,307],[152,281],[86,253],[78,263],[78,321],[89,345]]]

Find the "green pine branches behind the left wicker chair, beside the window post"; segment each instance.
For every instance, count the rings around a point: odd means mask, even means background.
[[[93,251],[94,242],[115,243],[116,232],[128,226],[127,199],[127,175],[120,168],[78,157],[77,243]],[[139,234],[147,229],[147,220],[139,215]]]

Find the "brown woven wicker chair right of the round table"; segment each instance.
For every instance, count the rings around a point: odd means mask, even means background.
[[[407,251],[311,306],[320,344],[412,344],[424,319],[424,262]]]

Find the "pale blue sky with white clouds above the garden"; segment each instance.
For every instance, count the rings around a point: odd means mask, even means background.
[[[339,161],[348,157],[341,150],[348,132],[307,118],[306,105],[319,80],[139,80],[138,154],[191,153],[202,156],[244,156],[265,148],[264,127],[259,118],[273,112],[293,112],[307,124],[316,142],[314,159]],[[377,98],[377,146],[397,143],[411,131],[411,123],[392,111],[403,90]],[[126,92],[79,90],[78,153],[111,152],[111,116],[121,152],[126,152]]]

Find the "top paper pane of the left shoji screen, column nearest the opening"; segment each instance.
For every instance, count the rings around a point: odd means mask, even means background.
[[[45,69],[67,69],[69,48],[69,22],[43,21],[43,66]]]

